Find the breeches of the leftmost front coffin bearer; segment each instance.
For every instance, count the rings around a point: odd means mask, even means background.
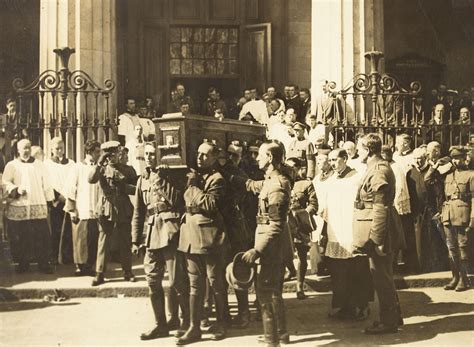
[[[165,269],[168,270],[170,290],[178,295],[189,294],[189,279],[186,272],[184,254],[176,250],[176,246],[168,245],[160,249],[147,249],[143,261],[146,281],[150,294],[163,291]]]

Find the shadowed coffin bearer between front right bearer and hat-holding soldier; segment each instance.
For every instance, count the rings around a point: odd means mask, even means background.
[[[220,172],[224,178],[231,175],[247,177],[247,174],[239,168],[242,160],[243,145],[240,141],[232,141],[227,147],[228,160]],[[248,193],[233,185],[228,185],[227,194],[224,197],[222,216],[226,225],[226,233],[230,242],[230,250],[226,252],[226,265],[232,262],[234,256],[239,252],[245,252],[251,248],[250,229],[242,210],[242,204]],[[227,281],[224,282],[227,287]],[[226,291],[227,292],[227,291]],[[233,325],[238,328],[246,328],[250,323],[250,310],[248,291],[236,290],[238,315],[233,320]],[[228,310],[227,310],[227,314]]]

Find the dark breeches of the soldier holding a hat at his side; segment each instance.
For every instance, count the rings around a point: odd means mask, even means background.
[[[261,264],[257,270],[256,294],[260,305],[271,304],[281,297],[285,264]]]

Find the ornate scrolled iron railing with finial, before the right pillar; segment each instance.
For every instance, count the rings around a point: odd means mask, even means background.
[[[423,109],[420,82],[404,87],[396,77],[381,74],[378,65],[382,52],[367,52],[365,57],[370,62],[369,74],[357,74],[339,91],[335,82],[325,85],[332,104],[320,121],[332,130],[336,143],[353,141],[358,134],[367,132],[380,133],[388,144],[393,144],[394,137],[401,133],[411,135],[415,146],[438,141],[449,148],[469,142],[474,133],[470,121],[462,123],[452,112],[439,115],[432,109]]]

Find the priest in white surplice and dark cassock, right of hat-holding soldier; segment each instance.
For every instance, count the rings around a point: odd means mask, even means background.
[[[348,155],[338,148],[328,155],[334,174],[323,197],[328,242],[325,255],[333,287],[330,317],[366,319],[373,286],[367,256],[354,256],[352,211],[361,174],[347,166]]]

